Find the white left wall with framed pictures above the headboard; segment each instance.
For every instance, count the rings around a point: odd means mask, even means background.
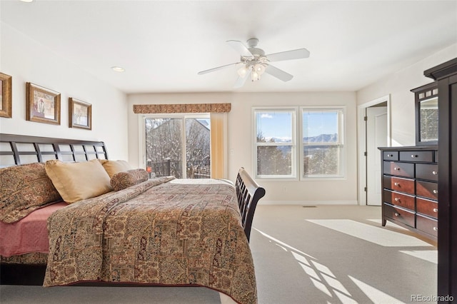
[[[0,71],[12,76],[13,99],[13,118],[0,118],[0,132],[105,141],[109,158],[128,159],[126,94],[7,24],[0,26]],[[60,126],[26,121],[26,82],[61,93]],[[92,104],[91,131],[69,128],[69,97]]]

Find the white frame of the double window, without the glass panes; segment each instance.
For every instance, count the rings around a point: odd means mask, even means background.
[[[338,143],[331,145],[341,146],[339,154],[340,173],[332,176],[304,176],[304,143],[303,143],[303,111],[339,111],[338,115]],[[291,112],[292,113],[292,140],[288,143],[257,143],[257,120],[256,113],[265,112]],[[346,180],[346,106],[253,106],[252,107],[252,160],[255,178],[268,179],[269,181],[341,181]],[[257,171],[257,148],[258,146],[291,146],[291,175],[265,176]]]

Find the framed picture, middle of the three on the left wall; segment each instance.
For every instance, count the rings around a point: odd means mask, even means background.
[[[27,82],[26,118],[37,123],[60,124],[60,93]]]

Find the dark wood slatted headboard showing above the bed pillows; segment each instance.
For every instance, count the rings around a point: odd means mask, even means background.
[[[73,162],[89,161],[94,158],[108,159],[103,141],[0,134],[2,167],[44,163],[50,159]]]

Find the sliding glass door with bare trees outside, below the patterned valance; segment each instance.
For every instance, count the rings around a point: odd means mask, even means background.
[[[206,116],[144,118],[146,169],[151,178],[209,178],[210,123]]]

